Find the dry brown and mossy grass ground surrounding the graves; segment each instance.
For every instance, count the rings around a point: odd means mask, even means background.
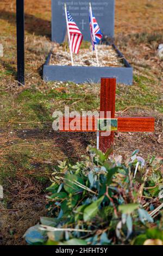
[[[45,187],[58,160],[77,161],[94,133],[54,133],[52,113],[99,109],[99,84],[42,81],[42,65],[52,47],[51,1],[26,1],[26,87],[16,82],[15,0],[0,9],[0,244],[23,244],[24,231],[45,214]],[[156,55],[162,38],[162,0],[116,1],[116,43],[134,66],[134,85],[117,86],[117,115],[152,115],[154,133],[116,133],[115,154],[124,159],[136,148],[161,156],[162,62]],[[93,90],[92,90],[93,88]]]

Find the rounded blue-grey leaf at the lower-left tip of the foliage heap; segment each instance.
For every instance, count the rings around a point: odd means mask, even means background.
[[[47,240],[47,236],[44,234],[45,232],[39,229],[39,225],[35,225],[29,228],[23,237],[25,237],[28,245],[42,245]]]

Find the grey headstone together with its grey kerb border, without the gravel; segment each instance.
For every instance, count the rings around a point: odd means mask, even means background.
[[[111,42],[113,41],[115,0],[52,0],[52,41],[60,44],[66,38],[65,2],[67,10],[70,11],[74,21],[79,26],[85,41],[91,41],[89,2],[91,2],[93,14],[98,21],[101,32],[103,35],[109,36]],[[117,83],[133,84],[133,68],[116,45],[112,44],[112,47],[117,53],[117,57],[122,60],[122,66],[70,66],[64,65],[64,63],[63,65],[52,65],[50,60],[53,53],[49,52],[46,63],[43,66],[43,80],[71,81],[74,83],[91,81],[98,83],[99,77],[116,77]]]

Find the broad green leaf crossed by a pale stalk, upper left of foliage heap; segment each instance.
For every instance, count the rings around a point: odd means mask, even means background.
[[[78,181],[80,184],[84,184],[83,179],[76,174],[66,174],[64,181],[64,188],[68,194],[83,191],[83,188],[74,184],[74,181]]]

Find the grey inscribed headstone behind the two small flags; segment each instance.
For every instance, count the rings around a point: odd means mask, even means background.
[[[74,21],[84,35],[84,40],[91,41],[89,28],[89,2],[99,27],[104,35],[114,37],[115,0],[52,0],[52,41],[63,42],[66,35],[64,3]]]

